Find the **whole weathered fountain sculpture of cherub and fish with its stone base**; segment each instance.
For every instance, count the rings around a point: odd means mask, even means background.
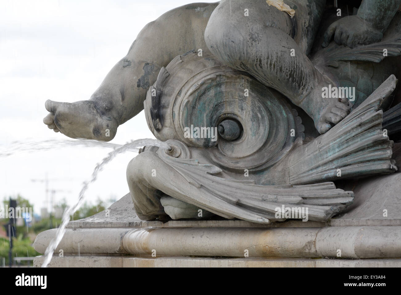
[[[399,266],[401,0],[328,2],[176,8],[144,27],[90,100],[47,101],[49,128],[101,141],[144,109],[168,146],[128,164],[114,215],[70,222],[59,249],[71,256],[53,266],[109,253],[119,256],[99,263]],[[54,233],[38,236],[38,252]]]

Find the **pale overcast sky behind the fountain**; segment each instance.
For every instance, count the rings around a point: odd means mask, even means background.
[[[202,1],[197,2],[213,2]],[[145,24],[190,0],[21,1],[0,2],[0,152],[12,153],[18,140],[38,147],[43,140],[73,140],[43,124],[47,99],[75,102],[89,99]],[[112,143],[154,138],[144,113],[118,128]],[[90,179],[106,148],[63,148],[17,151],[0,157],[0,200],[18,193],[40,213],[45,206],[45,179],[72,205],[81,183]],[[126,166],[136,153],[120,155],[91,185],[86,199],[119,199],[128,193]],[[49,202],[50,203],[50,202]]]

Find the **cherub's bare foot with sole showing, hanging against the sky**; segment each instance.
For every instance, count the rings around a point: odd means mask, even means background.
[[[49,129],[60,131],[68,137],[109,141],[117,132],[117,120],[111,114],[99,110],[93,101],[69,103],[47,100],[45,108],[50,114],[43,122]]]

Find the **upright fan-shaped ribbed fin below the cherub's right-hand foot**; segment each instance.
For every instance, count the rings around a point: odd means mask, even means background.
[[[364,102],[328,132],[298,147],[290,162],[290,183],[306,184],[388,174],[393,141],[382,130],[381,103],[395,90],[391,75]]]

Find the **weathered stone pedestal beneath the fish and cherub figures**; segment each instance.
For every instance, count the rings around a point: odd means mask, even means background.
[[[330,222],[141,221],[127,194],[70,222],[49,267],[401,267],[401,173],[350,185],[354,204]],[[39,234],[36,251],[56,231]]]

